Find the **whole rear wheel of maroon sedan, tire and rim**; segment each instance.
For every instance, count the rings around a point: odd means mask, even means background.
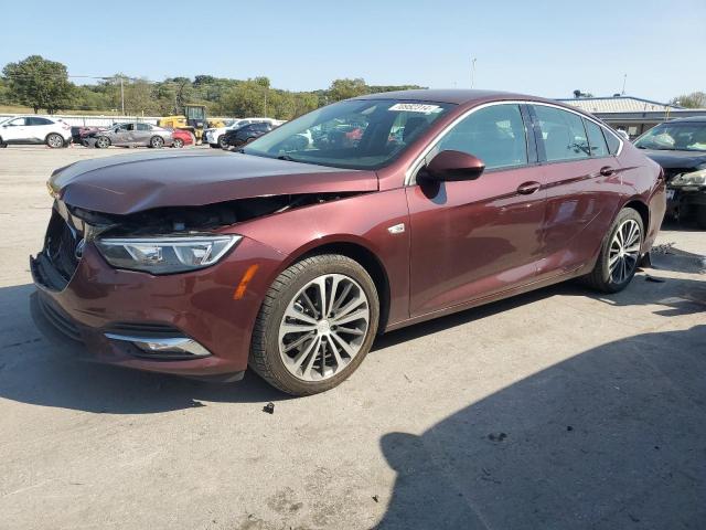
[[[624,289],[638,271],[643,241],[642,218],[631,208],[622,209],[606,234],[593,271],[586,276],[588,285],[603,293]]]

